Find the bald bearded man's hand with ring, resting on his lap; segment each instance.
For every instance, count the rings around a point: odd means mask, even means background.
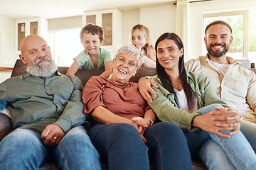
[[[44,145],[57,146],[64,135],[65,132],[58,125],[50,124],[43,130],[41,138]],[[56,139],[54,139],[54,137],[56,137]]]

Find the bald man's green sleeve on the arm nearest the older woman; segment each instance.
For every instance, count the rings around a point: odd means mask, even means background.
[[[82,82],[77,77],[73,78],[75,78],[73,93],[71,94],[63,113],[54,123],[60,126],[64,132],[68,132],[68,130],[75,125],[85,121],[85,115],[82,114]]]

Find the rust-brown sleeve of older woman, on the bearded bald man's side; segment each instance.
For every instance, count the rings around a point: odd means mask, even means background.
[[[90,114],[97,106],[105,107],[102,100],[102,91],[105,86],[97,79],[97,77],[91,77],[85,84],[85,88],[82,91],[82,101],[84,103],[84,114]]]

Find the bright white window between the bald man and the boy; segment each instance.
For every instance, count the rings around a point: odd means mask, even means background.
[[[84,48],[80,42],[80,30],[58,30],[50,33],[50,48],[58,66],[70,67],[75,58]]]

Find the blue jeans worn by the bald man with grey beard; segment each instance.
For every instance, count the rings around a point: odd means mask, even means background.
[[[21,128],[0,145],[1,169],[39,169],[48,159],[59,169],[101,169],[99,154],[81,125],[69,130],[57,147],[44,145],[40,134]]]

